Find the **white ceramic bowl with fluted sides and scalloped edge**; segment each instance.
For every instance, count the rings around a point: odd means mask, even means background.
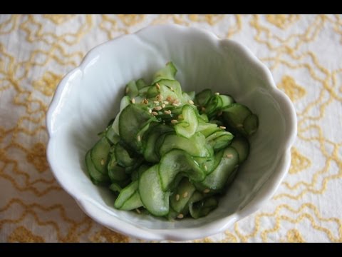
[[[107,188],[94,186],[84,156],[97,133],[118,113],[125,84],[173,61],[185,91],[211,88],[231,94],[259,116],[249,158],[219,207],[207,217],[165,221],[113,208]],[[88,216],[114,231],[147,240],[189,240],[219,233],[257,211],[290,165],[296,114],[270,71],[241,44],[200,29],[149,26],[92,49],[58,85],[46,118],[48,162],[61,186]]]

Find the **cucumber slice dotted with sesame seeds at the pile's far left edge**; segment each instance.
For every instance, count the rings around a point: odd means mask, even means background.
[[[108,139],[103,137],[95,143],[95,146],[91,148],[90,157],[93,161],[95,168],[100,171],[100,173],[107,174],[108,169],[108,153],[110,151],[110,143]]]

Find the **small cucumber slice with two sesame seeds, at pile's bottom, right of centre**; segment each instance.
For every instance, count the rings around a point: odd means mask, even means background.
[[[170,206],[172,209],[177,213],[180,213],[187,205],[187,202],[195,190],[195,186],[193,186],[187,178],[183,178],[176,191],[170,196]],[[182,214],[184,215],[184,213]]]

